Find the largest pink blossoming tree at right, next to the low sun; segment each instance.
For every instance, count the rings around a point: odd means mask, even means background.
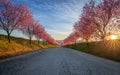
[[[112,31],[109,31],[111,26],[111,20],[120,14],[120,1],[119,0],[103,0],[100,4],[94,7],[91,22],[96,26],[96,35],[100,39],[105,39],[105,37]],[[88,7],[89,8],[89,7]],[[114,24],[112,24],[114,25]],[[114,26],[112,26],[114,27]]]

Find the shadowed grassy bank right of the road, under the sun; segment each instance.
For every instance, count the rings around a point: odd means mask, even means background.
[[[120,40],[89,42],[89,45],[77,43],[65,47],[120,62]]]

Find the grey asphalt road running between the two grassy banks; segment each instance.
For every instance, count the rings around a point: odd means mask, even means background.
[[[120,63],[57,47],[0,61],[0,75],[120,75]]]

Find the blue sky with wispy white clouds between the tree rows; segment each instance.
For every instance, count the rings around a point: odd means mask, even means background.
[[[82,8],[89,0],[11,0],[17,4],[27,5],[46,31],[55,39],[65,39],[78,21]],[[3,32],[4,33],[4,32]],[[25,37],[20,31],[13,36]]]

